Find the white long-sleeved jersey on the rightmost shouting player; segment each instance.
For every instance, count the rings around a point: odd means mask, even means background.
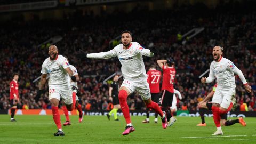
[[[234,73],[238,74],[243,84],[247,83],[241,70],[239,70],[233,62],[222,57],[219,62],[212,61],[210,74],[209,77],[206,78],[206,83],[212,82],[215,76],[218,83],[217,89],[235,90],[236,84]]]

